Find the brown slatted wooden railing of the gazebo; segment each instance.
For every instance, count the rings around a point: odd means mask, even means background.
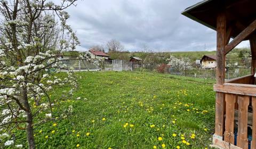
[[[251,126],[251,149],[256,149],[256,85],[252,85],[254,84],[252,77],[249,75],[229,80],[223,85],[214,85],[215,92],[225,94],[223,105],[225,107],[222,113],[224,114],[223,133],[222,136],[213,137],[214,145],[222,148],[248,148],[247,126]],[[248,112],[249,105],[252,107],[252,113]],[[236,121],[237,141],[235,145]]]

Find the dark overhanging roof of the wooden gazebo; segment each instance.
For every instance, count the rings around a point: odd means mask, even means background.
[[[183,15],[206,27],[216,30],[220,8],[227,14],[227,28],[232,27],[231,37],[236,37],[256,19],[255,0],[204,0],[188,7]]]

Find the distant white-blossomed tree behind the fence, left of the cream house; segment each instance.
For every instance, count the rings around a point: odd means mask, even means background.
[[[181,59],[178,59],[177,57],[170,56],[170,59],[167,59],[168,65],[171,66],[176,71],[182,72],[185,75],[187,74],[187,70],[191,69],[191,63],[190,60],[187,57],[182,57]]]

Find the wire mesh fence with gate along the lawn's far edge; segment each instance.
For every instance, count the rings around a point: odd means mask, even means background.
[[[133,64],[125,60],[105,60],[102,63],[98,62],[87,62],[82,60],[67,60],[63,61],[67,65],[68,69],[73,69],[74,71],[157,71],[159,68],[163,67],[163,64],[154,65],[144,65],[144,64]],[[195,78],[211,78],[215,79],[216,70],[215,69],[201,69],[193,68],[183,71],[175,70],[170,67],[164,67],[163,71],[160,73],[169,73],[180,76],[189,76]],[[235,67],[226,69],[225,78],[232,79],[236,77],[245,76],[251,73],[250,67]]]

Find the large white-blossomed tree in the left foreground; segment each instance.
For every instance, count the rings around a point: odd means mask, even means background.
[[[56,75],[67,69],[62,64],[63,51],[79,44],[64,11],[75,1],[62,0],[57,5],[46,0],[0,0],[0,145],[14,145],[12,130],[21,129],[26,130],[29,148],[35,148],[34,119],[40,123],[53,116],[55,100],[50,91],[54,86],[73,85],[62,96],[65,100],[77,86],[72,72]],[[38,113],[45,113],[44,117]],[[10,135],[10,140],[1,141]]]

